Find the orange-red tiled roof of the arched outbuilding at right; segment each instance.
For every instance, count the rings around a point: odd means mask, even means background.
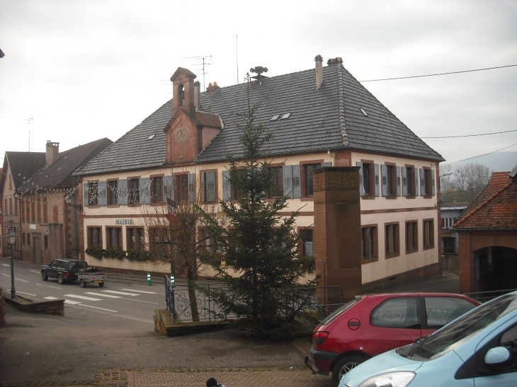
[[[454,227],[517,229],[517,181],[509,172],[494,172],[487,187],[462,211]]]

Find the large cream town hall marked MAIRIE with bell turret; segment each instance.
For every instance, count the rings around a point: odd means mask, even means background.
[[[189,197],[188,187],[198,186],[207,202],[234,200],[226,155],[242,156],[236,113],[246,111],[249,93],[251,103],[261,103],[256,122],[273,134],[268,158],[278,168],[266,197],[287,195],[285,214],[300,209],[297,228],[309,229],[304,253],[312,254],[312,171],[359,166],[365,289],[441,273],[435,182],[443,158],[353,78],[341,58],[323,67],[317,56],[315,63],[292,74],[258,74],[249,84],[210,83],[204,92],[195,74],[179,67],[171,77],[173,99],[76,173],[84,205],[81,252],[128,250],[148,240],[139,219],[146,206],[163,205],[164,190]],[[153,269],[125,259],[86,260],[113,270]]]

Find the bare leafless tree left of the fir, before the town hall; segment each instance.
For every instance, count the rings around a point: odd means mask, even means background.
[[[185,275],[193,321],[199,320],[195,279],[203,263],[215,260],[215,248],[200,219],[217,214],[215,175],[171,168],[169,175],[150,180],[151,202],[142,206],[139,222],[147,229],[144,245],[157,265]],[[161,179],[161,180],[157,180]]]

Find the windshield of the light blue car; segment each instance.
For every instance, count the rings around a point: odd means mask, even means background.
[[[431,360],[441,357],[515,309],[517,309],[516,294],[501,296],[499,299],[478,306],[454,323],[415,342],[405,357],[414,360]],[[404,356],[402,352],[400,354]]]

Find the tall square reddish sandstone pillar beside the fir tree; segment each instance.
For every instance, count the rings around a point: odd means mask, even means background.
[[[361,294],[359,167],[313,171],[314,255],[319,286],[339,286],[343,301]],[[334,302],[331,293],[327,302]]]

